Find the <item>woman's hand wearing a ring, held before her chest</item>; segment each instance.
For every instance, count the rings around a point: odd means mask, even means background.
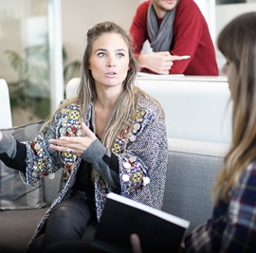
[[[80,156],[97,138],[94,133],[82,122],[82,131],[84,132],[84,137],[69,137],[62,136],[59,139],[49,139],[49,148],[52,150],[67,152],[67,148],[71,149],[71,154]],[[53,145],[54,144],[54,145]]]

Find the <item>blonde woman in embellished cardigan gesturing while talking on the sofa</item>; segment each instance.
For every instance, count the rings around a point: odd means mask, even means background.
[[[100,23],[87,32],[77,96],[62,102],[35,140],[19,143],[0,133],[0,158],[15,165],[26,184],[63,171],[59,195],[36,228],[30,252],[80,241],[87,224],[101,219],[110,191],[161,208],[168,150],[164,113],[135,86],[136,75],[126,32]]]

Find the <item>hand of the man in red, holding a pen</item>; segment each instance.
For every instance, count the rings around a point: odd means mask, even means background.
[[[174,61],[180,61],[180,56],[171,55],[170,52],[157,52],[152,54],[141,54],[138,56],[140,67],[146,67],[157,74],[169,75]]]

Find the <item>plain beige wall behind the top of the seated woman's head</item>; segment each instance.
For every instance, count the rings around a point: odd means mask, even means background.
[[[114,21],[127,31],[139,0],[62,0],[63,44],[67,63],[82,60],[86,32],[102,21]]]

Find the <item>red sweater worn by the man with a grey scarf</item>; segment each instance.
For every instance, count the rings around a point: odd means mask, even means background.
[[[134,53],[149,40],[147,11],[150,1],[137,8],[130,32],[134,37]],[[161,20],[158,19],[159,22]],[[150,40],[149,40],[150,41]],[[215,51],[206,20],[193,0],[180,0],[174,18],[174,36],[170,46],[172,55],[190,55],[189,60],[174,61],[170,74],[218,76]],[[141,71],[150,72],[147,69]]]

